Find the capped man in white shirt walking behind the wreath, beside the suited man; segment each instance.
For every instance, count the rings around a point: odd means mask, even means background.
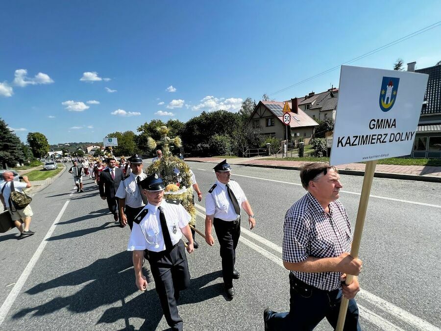
[[[143,173],[143,159],[138,154],[131,156],[128,160],[131,173],[123,178],[115,196],[119,198],[120,226],[123,228],[128,224],[131,230],[133,219],[147,202],[146,198],[143,199],[139,187],[139,182],[147,175]]]

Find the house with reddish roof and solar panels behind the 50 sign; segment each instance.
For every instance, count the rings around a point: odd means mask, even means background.
[[[291,122],[288,126],[288,141],[296,142],[303,138],[308,144],[314,133],[314,127],[319,124],[300,109],[298,99],[288,101],[291,108]],[[294,104],[294,107],[293,107]],[[250,116],[253,127],[261,127],[262,134],[266,137],[286,139],[286,126],[283,123],[283,107],[285,102],[259,101]]]

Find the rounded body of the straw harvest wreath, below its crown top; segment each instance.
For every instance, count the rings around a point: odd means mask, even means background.
[[[169,154],[150,164],[145,173],[147,175],[157,173],[161,176],[166,186],[165,198],[179,200],[192,216],[189,223],[195,225],[196,209],[193,204],[192,175],[189,166],[179,157]]]

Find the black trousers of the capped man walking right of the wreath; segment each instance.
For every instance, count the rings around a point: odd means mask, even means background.
[[[241,219],[228,222],[215,218],[213,225],[221,246],[223,282],[226,287],[231,287],[233,286],[233,271],[236,263],[236,247],[241,236]]]

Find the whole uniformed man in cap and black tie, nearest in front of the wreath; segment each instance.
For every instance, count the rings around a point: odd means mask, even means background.
[[[136,286],[141,291],[147,289],[147,279],[142,274],[143,253],[147,250],[167,323],[172,330],[182,331],[176,301],[179,291],[190,285],[190,273],[181,237],[184,234],[187,238],[187,251],[192,253],[193,238],[188,225],[191,216],[178,201],[163,199],[165,186],[157,174],[142,180],[141,186],[148,204],[136,216],[127,246],[128,251],[133,251]]]

